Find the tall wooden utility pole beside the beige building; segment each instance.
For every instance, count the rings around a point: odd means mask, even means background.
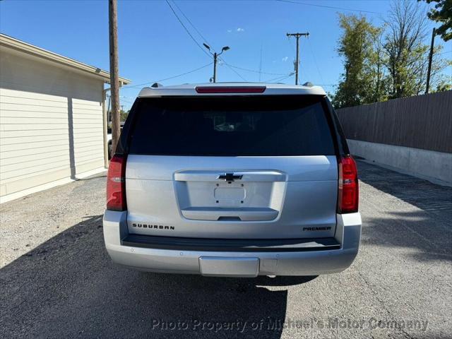
[[[118,13],[117,0],[108,1],[109,46],[110,46],[110,98],[112,100],[112,153],[121,133],[119,117],[119,75],[118,75]]]

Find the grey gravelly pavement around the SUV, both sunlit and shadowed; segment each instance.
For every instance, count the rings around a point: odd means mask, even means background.
[[[452,338],[452,189],[366,162],[359,171],[359,255],[318,278],[114,266],[105,175],[4,203],[0,338]]]

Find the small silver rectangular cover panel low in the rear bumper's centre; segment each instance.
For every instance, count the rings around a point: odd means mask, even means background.
[[[220,277],[256,277],[259,273],[259,258],[201,256],[201,275]]]

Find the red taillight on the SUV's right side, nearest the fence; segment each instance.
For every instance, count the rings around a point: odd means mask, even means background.
[[[338,213],[358,211],[358,171],[355,160],[347,155],[339,162]]]

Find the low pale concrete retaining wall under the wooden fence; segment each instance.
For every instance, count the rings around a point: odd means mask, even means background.
[[[347,139],[350,153],[433,182],[452,184],[452,153]]]

